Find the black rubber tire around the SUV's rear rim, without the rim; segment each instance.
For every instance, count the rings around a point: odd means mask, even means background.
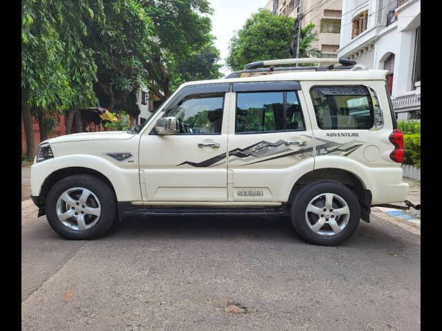
[[[348,223],[337,234],[318,234],[311,230],[306,220],[306,210],[310,201],[320,194],[333,193],[345,200],[349,208]],[[315,245],[337,245],[350,237],[358,228],[361,219],[361,205],[356,194],[347,186],[336,181],[321,181],[310,183],[300,188],[291,201],[291,223],[294,225],[299,237]],[[310,215],[310,214],[309,214]],[[328,225],[325,225],[327,228]],[[330,227],[330,230],[331,227]]]

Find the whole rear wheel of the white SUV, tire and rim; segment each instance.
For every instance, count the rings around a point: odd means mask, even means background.
[[[300,188],[291,202],[291,221],[299,236],[316,245],[336,245],[358,228],[361,206],[347,186],[323,181]]]

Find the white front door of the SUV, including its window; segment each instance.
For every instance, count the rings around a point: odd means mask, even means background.
[[[184,88],[140,139],[144,201],[227,201],[229,84]],[[155,122],[175,117],[179,133],[157,135]]]

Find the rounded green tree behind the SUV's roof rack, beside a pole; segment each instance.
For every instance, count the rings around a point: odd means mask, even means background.
[[[231,70],[242,70],[247,63],[254,61],[291,58],[294,24],[292,17],[276,16],[266,9],[258,10],[232,37],[227,66]],[[320,51],[311,47],[311,43],[318,40],[314,24],[301,28],[300,34],[300,57],[318,56]]]

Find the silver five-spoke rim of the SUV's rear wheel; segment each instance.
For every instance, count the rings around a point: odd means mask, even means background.
[[[309,228],[322,236],[333,236],[343,231],[350,219],[347,202],[338,194],[322,193],[311,199],[305,211]]]

